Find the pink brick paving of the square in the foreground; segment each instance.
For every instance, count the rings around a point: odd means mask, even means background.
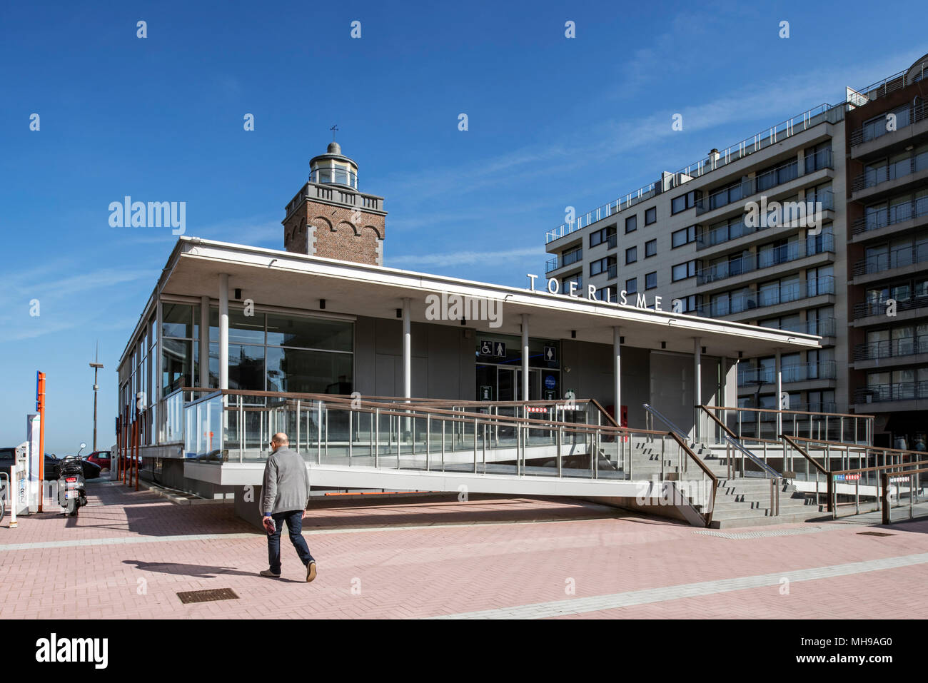
[[[593,598],[645,588],[788,573],[928,552],[928,521],[889,529],[788,524],[732,533],[813,528],[815,533],[724,538],[692,527],[567,499],[328,500],[304,521],[319,575],[282,540],[283,578],[265,569],[266,543],[230,505],[178,506],[148,492],[92,483],[75,521],[57,512],[0,527],[0,618],[410,618]],[[509,523],[521,522],[521,523]],[[406,528],[414,527],[414,528]],[[878,529],[885,537],[859,535]],[[218,539],[165,536],[229,535]],[[54,541],[103,545],[29,548]],[[152,542],[155,541],[155,542]],[[8,549],[10,544],[27,544]],[[78,567],[68,575],[66,567]],[[664,599],[567,618],[911,616],[928,608],[928,565],[779,586]],[[565,586],[575,586],[568,594]],[[232,588],[236,600],[182,604],[176,593]],[[565,603],[567,604],[567,603]]]

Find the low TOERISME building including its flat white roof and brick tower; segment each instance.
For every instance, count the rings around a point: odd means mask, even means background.
[[[233,455],[266,457],[269,434],[251,419],[286,394],[575,397],[638,428],[643,404],[659,406],[692,431],[694,406],[736,404],[739,358],[821,346],[814,334],[675,313],[654,297],[552,293],[544,277],[516,288],[385,267],[384,202],[358,189],[356,163],[333,143],[310,168],[287,205],[284,250],[181,237],[168,255],[118,371],[121,424],[137,425],[161,483],[223,495],[196,463],[228,430],[252,427],[261,436],[247,448],[242,436]],[[221,392],[238,421],[191,419]],[[308,430],[299,419],[288,428],[298,444]]]

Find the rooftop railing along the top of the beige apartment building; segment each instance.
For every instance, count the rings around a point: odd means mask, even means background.
[[[680,169],[676,174],[672,174],[673,181],[671,185],[672,187],[679,187],[684,183],[692,180],[693,178],[711,173],[712,171],[715,171],[715,169],[721,168],[728,163],[739,161],[749,154],[754,154],[754,152],[760,151],[761,149],[766,149],[771,145],[776,145],[778,142],[781,142],[787,137],[791,137],[797,133],[802,133],[808,128],[816,126],[821,122],[833,123],[841,121],[843,118],[843,104],[836,107],[832,107],[828,103],[820,104],[818,107],[813,107],[812,109],[804,111],[797,116],[793,116],[792,119],[787,119],[786,121],[777,123],[777,125],[770,127],[766,131],[762,131],[757,135],[745,138],[741,140],[741,142],[732,145],[731,147],[722,149],[718,152],[717,155],[713,154],[705,159],[690,164],[686,168]],[[664,189],[663,191],[668,191],[669,189],[670,187]],[[553,242],[555,239],[560,239],[565,235],[570,235],[576,230],[580,230],[581,228],[592,225],[593,223],[596,223],[603,218],[608,218],[615,213],[625,211],[629,207],[635,206],[641,201],[651,199],[651,197],[654,197],[661,191],[662,189],[658,183],[651,183],[644,187],[639,187],[638,190],[629,192],[624,197],[620,197],[619,199],[611,201],[608,204],[603,204],[591,212],[587,212],[578,216],[571,223],[563,223],[553,230],[548,230],[548,232],[545,234],[545,244],[548,244],[548,242]]]

